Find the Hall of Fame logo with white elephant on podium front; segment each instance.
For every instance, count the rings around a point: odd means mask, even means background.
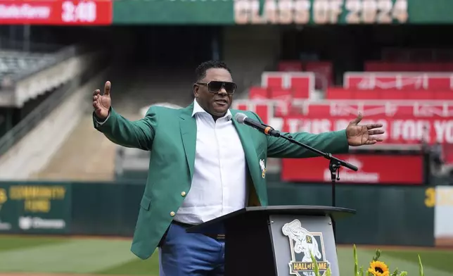
[[[319,275],[326,275],[331,263],[326,260],[324,241],[321,232],[308,232],[299,220],[283,225],[283,234],[288,237],[291,250],[291,262],[288,263],[291,275],[314,276],[312,252],[319,267]]]

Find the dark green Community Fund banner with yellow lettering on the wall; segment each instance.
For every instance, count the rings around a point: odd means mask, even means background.
[[[0,183],[0,233],[70,231],[70,184]]]

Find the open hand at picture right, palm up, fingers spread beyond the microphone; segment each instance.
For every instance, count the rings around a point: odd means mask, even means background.
[[[362,113],[359,113],[357,118],[352,120],[351,123],[347,125],[347,144],[350,146],[362,146],[383,142],[381,137],[374,136],[384,134],[384,130],[376,130],[376,128],[382,127],[382,124],[359,125],[362,117]]]

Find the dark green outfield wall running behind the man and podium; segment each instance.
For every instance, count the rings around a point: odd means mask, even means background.
[[[0,182],[0,233],[130,237],[142,183]],[[452,211],[453,190],[438,188],[338,184],[337,206],[357,210],[338,220],[338,243],[433,246],[435,225],[442,239],[453,237],[442,215]],[[269,182],[269,203],[329,206],[331,185]]]

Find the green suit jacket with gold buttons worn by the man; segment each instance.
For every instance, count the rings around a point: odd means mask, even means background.
[[[132,252],[139,258],[149,258],[173,220],[174,214],[190,192],[196,149],[196,119],[193,103],[186,108],[161,106],[149,108],[141,120],[129,121],[110,109],[110,117],[99,124],[93,115],[94,127],[115,144],[151,151],[148,180],[140,202]],[[253,112],[231,109],[231,114],[245,113],[262,120]],[[270,137],[233,120],[241,139],[248,167],[250,185],[249,206],[267,206],[266,179],[260,159],[307,158],[314,154],[306,149]],[[345,130],[322,134],[293,133],[293,138],[329,153],[347,153]]]

